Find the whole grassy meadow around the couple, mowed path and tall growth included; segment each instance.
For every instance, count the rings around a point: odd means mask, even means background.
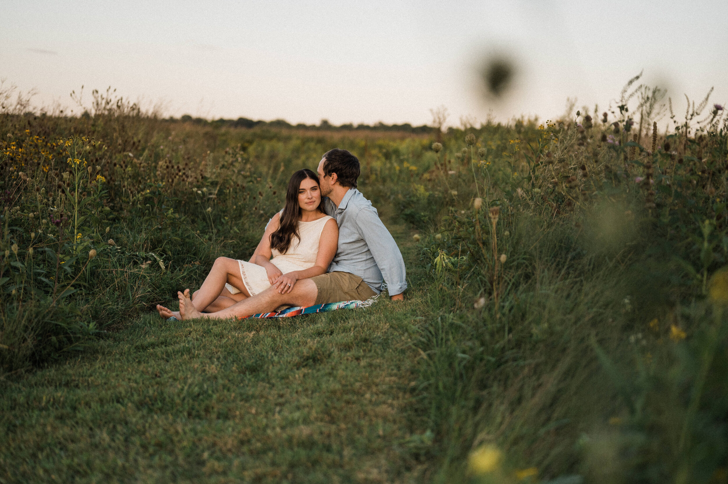
[[[437,134],[0,113],[0,483],[728,482],[728,121],[637,80]],[[333,147],[405,302],[154,315]]]

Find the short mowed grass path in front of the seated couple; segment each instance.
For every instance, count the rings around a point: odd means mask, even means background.
[[[0,482],[422,480],[412,343],[424,291],[410,234],[392,229],[403,303],[283,320],[149,314],[0,382]]]

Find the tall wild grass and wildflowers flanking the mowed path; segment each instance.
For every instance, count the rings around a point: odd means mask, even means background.
[[[288,174],[339,146],[419,238],[436,481],[724,482],[728,126],[706,97],[650,132],[663,94],[636,81],[606,113],[450,129],[434,146],[165,121],[108,94],[80,118],[4,113],[2,371],[245,257]]]

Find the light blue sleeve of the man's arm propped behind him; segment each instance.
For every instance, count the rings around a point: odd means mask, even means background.
[[[356,217],[356,227],[371,251],[379,267],[389,296],[402,294],[407,289],[405,261],[395,239],[379,219],[376,209],[361,209]]]

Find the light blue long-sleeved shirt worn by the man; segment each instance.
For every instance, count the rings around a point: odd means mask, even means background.
[[[405,261],[371,201],[356,188],[349,188],[338,207],[328,197],[323,206],[339,224],[339,247],[328,272],[358,275],[377,294],[383,281],[389,296],[403,293],[407,289]]]

